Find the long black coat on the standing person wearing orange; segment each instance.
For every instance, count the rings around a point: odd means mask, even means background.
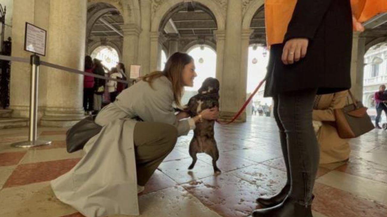
[[[352,35],[349,0],[298,0],[284,42],[308,38],[307,55],[285,65],[284,44],[272,45],[265,96],[310,88],[317,88],[318,94],[351,88]]]

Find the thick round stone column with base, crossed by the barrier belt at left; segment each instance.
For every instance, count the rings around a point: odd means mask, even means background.
[[[48,62],[84,69],[86,11],[86,1],[50,0]],[[47,107],[41,125],[65,127],[75,124],[84,116],[82,100],[82,75],[49,68]]]

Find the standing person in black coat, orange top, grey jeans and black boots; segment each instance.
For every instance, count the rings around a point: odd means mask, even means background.
[[[349,0],[266,0],[271,47],[265,97],[273,97],[287,183],[253,217],[312,217],[319,144],[312,125],[316,94],[351,87],[352,12]]]

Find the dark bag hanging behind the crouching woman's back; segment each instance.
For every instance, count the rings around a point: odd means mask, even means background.
[[[83,149],[86,142],[101,131],[102,127],[94,122],[95,116],[87,116],[68,129],[66,132],[68,153]]]

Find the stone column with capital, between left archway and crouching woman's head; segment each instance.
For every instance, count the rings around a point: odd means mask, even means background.
[[[129,78],[130,65],[139,64],[137,54],[139,52],[139,35],[141,29],[135,24],[124,24],[121,28],[123,31],[122,62],[125,64],[127,78]]]

